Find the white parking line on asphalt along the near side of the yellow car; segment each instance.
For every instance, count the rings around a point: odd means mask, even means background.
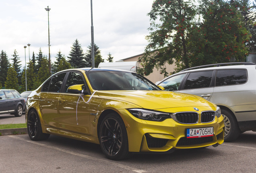
[[[126,166],[126,165],[122,165],[122,164],[120,164],[120,163],[116,163],[116,162],[114,162],[114,161],[109,161],[109,160],[105,160],[105,159],[98,159],[98,158],[91,157],[91,156],[88,156],[88,155],[84,155],[84,154],[80,154],[80,153],[75,153],[75,152],[72,152],[72,151],[68,151],[68,150],[66,150],[66,149],[60,149],[60,148],[57,148],[57,147],[53,147],[53,146],[41,144],[41,143],[38,143],[38,142],[35,142],[35,141],[28,141],[28,140],[26,140],[26,139],[22,139],[22,138],[20,138],[20,137],[14,136],[14,135],[9,135],[8,137],[12,137],[12,138],[15,138],[15,139],[19,139],[19,140],[22,140],[22,141],[26,141],[26,142],[29,142],[29,143],[33,143],[33,144],[40,145],[40,146],[43,146],[43,147],[47,147],[47,148],[50,148],[50,149],[55,149],[55,150],[62,151],[62,152],[64,152],[64,153],[68,153],[68,154],[72,154],[72,155],[76,155],[76,156],[79,156],[79,157],[84,157],[84,158],[87,158],[87,159],[90,159],[90,160],[105,162],[105,163],[107,163],[108,165],[111,164],[111,165],[118,166],[118,167],[120,167],[120,168],[127,169],[127,170],[129,170],[129,171],[133,171],[133,172],[136,172],[136,173],[143,173],[143,172],[146,172],[146,171],[141,170],[141,169],[136,169],[136,168],[129,167],[129,166]]]

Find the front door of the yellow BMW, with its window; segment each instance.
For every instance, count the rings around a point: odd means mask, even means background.
[[[68,87],[76,84],[83,84],[83,90],[86,89],[86,82],[83,74],[80,72],[69,72],[64,84],[64,91],[60,94],[58,106],[59,128],[80,134],[90,134],[89,121],[89,94],[81,95],[68,93]],[[81,97],[83,97],[83,99]]]

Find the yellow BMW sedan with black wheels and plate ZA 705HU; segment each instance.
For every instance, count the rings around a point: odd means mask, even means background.
[[[29,95],[26,123],[31,140],[51,134],[91,142],[112,160],[216,147],[225,130],[213,103],[163,91],[135,72],[102,68],[52,75]]]

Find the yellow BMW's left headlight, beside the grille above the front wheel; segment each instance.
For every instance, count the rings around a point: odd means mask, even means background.
[[[165,119],[171,118],[169,113],[150,111],[146,109],[128,109],[130,113],[139,119],[149,121],[164,121]]]

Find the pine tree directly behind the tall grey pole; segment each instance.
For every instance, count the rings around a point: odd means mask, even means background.
[[[86,67],[91,67],[92,66],[92,62],[91,62],[91,44],[90,46],[87,47],[87,53],[85,54],[85,61],[86,61]],[[101,51],[99,50],[99,47],[94,44],[94,64],[95,67],[99,66],[100,62],[104,62],[104,59],[102,59],[101,56]]]

